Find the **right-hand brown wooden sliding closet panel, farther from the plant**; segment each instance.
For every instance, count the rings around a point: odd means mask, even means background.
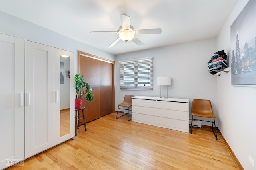
[[[100,61],[100,116],[112,113],[112,63]]]

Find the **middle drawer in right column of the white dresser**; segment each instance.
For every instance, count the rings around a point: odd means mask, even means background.
[[[156,109],[156,116],[188,121],[188,111]]]

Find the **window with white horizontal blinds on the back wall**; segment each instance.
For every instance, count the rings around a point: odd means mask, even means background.
[[[120,89],[153,90],[153,57],[119,63]]]

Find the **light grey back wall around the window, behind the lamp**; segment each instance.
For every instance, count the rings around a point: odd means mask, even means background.
[[[208,39],[191,43],[183,43],[149,49],[116,56],[116,110],[122,103],[125,94],[160,96],[158,76],[171,76],[172,85],[168,89],[168,97],[192,99],[210,99],[216,117],[217,113],[217,75],[208,72],[207,62],[216,52],[216,40]],[[119,61],[153,56],[154,90],[120,90]],[[166,90],[162,94],[166,94]],[[190,113],[191,117],[191,113]],[[208,123],[204,123],[207,125]],[[211,124],[210,124],[211,125]],[[213,135],[213,134],[212,134]],[[214,135],[213,135],[214,136]]]

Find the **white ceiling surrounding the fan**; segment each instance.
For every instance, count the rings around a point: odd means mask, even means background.
[[[112,54],[216,37],[238,0],[1,0],[0,10]],[[120,14],[135,30],[161,28],[162,34],[140,34],[145,45],[119,41]]]

